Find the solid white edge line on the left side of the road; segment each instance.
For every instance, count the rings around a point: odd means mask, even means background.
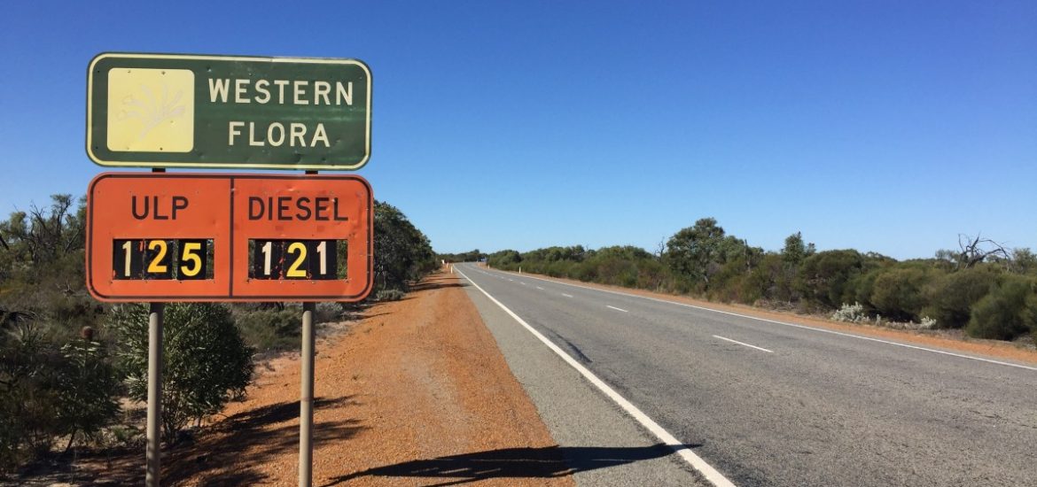
[[[460,273],[461,277],[468,279],[468,276],[465,276],[465,273],[461,273],[460,270],[458,270],[458,273]],[[641,426],[645,427],[645,429],[647,429],[653,435],[655,435],[656,438],[666,443],[667,447],[670,447],[671,450],[673,450],[677,455],[679,455],[680,458],[682,458],[685,462],[691,464],[692,468],[695,468],[696,470],[699,471],[699,474],[702,474],[702,477],[705,477],[707,481],[712,483],[712,485],[716,485],[717,487],[734,487],[734,484],[731,483],[731,481],[727,480],[726,477],[724,477],[721,472],[717,471],[717,469],[713,468],[708,463],[706,463],[705,460],[696,455],[695,452],[693,452],[692,449],[688,448],[686,445],[678,441],[677,438],[674,437],[672,434],[670,434],[669,431],[663,429],[663,427],[660,426],[658,423],[655,423],[654,420],[648,418],[648,416],[642,412],[641,409],[638,409],[638,406],[635,406],[634,404],[630,403],[630,401],[627,401],[625,398],[620,396],[619,393],[617,393],[614,389],[609,386],[609,384],[605,383],[601,379],[597,378],[597,376],[594,375],[593,372],[591,372],[582,364],[577,362],[576,359],[572,359],[571,356],[569,356],[568,353],[562,351],[562,349],[559,348],[558,345],[552,343],[551,340],[548,340],[548,338],[541,335],[540,332],[537,332],[535,328],[533,328],[533,326],[530,326],[529,323],[526,322],[526,320],[520,318],[518,315],[514,314],[514,312],[509,310],[508,307],[504,306],[501,302],[497,300],[496,297],[489,295],[489,293],[486,292],[481,287],[479,287],[479,285],[476,284],[475,281],[468,279],[468,282],[472,283],[472,285],[475,286],[476,289],[482,291],[482,293],[485,294],[486,297],[489,298],[489,300],[494,302],[494,304],[496,304],[502,310],[504,310],[505,313],[514,318],[514,320],[517,321],[518,324],[523,325],[527,331],[529,331],[529,333],[533,334],[534,337],[543,342],[543,344],[546,345],[548,348],[557,353],[558,356],[562,357],[562,360],[565,361],[566,364],[576,369],[577,372],[580,372],[580,375],[583,375],[584,378],[590,381],[590,383],[594,384],[594,386],[596,386],[599,391],[605,393],[605,395],[608,396],[609,399],[612,399],[613,402],[619,405],[619,407],[623,408],[623,410],[626,411],[627,414],[634,417],[634,419],[637,420],[638,423],[641,423]]]

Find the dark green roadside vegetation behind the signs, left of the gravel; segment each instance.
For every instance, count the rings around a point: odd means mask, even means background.
[[[85,201],[68,195],[0,221],[0,480],[41,459],[67,461],[76,448],[142,446],[140,418],[124,406],[146,397],[148,307],[90,297],[84,230]],[[399,299],[437,268],[428,238],[398,208],[375,202],[374,234],[369,299]],[[321,303],[316,318],[364,306]],[[168,305],[167,448],[243,397],[257,352],[299,347],[301,315],[285,303]]]

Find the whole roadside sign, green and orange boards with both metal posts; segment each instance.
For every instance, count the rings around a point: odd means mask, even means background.
[[[87,71],[86,152],[106,167],[306,170],[103,173],[87,192],[86,284],[151,302],[146,484],[161,479],[167,302],[303,302],[299,485],[312,481],[315,300],[373,284],[371,73],[354,59],[105,53]]]

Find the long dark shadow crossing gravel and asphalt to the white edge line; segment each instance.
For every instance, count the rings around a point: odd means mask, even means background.
[[[698,446],[686,446],[686,448],[695,447]],[[336,478],[323,487],[338,485],[362,477],[450,480],[435,484],[438,486],[465,484],[486,479],[548,479],[624,465],[641,460],[651,460],[672,453],[673,450],[663,443],[650,447],[509,448],[380,466]]]

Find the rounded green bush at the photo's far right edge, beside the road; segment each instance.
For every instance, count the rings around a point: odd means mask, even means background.
[[[1032,278],[1006,275],[976,303],[965,333],[972,337],[1014,340],[1033,331],[1037,299]]]

